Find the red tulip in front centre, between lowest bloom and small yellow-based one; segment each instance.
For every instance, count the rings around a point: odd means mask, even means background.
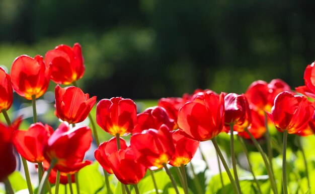
[[[137,161],[150,170],[156,170],[167,164],[175,153],[172,135],[166,125],[159,130],[149,129],[131,136],[131,147]]]

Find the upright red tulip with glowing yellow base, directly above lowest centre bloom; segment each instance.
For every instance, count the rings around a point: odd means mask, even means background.
[[[128,135],[137,124],[136,104],[122,97],[103,99],[96,107],[96,122],[113,136]]]

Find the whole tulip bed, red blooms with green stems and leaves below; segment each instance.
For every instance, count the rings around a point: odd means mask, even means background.
[[[314,63],[304,86],[257,80],[243,94],[196,89],[141,109],[85,93],[83,55],[62,44],[0,68],[0,193],[315,193]],[[53,125],[36,108],[49,85]],[[19,98],[32,104],[26,127],[11,112]]]

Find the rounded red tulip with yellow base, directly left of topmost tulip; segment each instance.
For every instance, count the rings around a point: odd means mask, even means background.
[[[42,96],[49,85],[51,67],[45,66],[43,57],[34,58],[21,55],[17,57],[11,68],[13,89],[22,97],[31,100],[32,96]]]

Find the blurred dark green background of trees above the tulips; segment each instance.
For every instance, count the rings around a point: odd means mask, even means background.
[[[79,42],[78,83],[98,99],[157,99],[196,88],[303,85],[315,59],[314,1],[0,0],[0,64]],[[53,85],[53,84],[51,84]]]

